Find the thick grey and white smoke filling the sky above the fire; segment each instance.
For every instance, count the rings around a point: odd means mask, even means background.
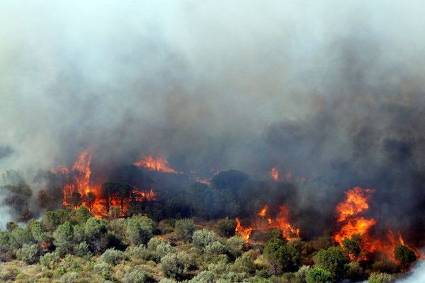
[[[424,1],[2,1],[0,171],[69,165],[88,147],[98,168],[140,154],[203,174],[265,178],[279,166],[373,187],[397,221],[419,214],[424,11]]]

